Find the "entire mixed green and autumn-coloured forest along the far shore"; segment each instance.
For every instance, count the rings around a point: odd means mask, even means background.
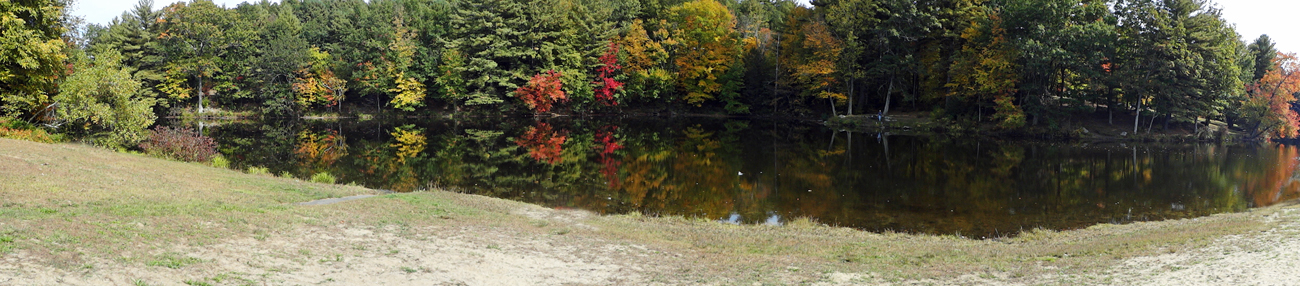
[[[130,146],[160,117],[1105,113],[1295,136],[1300,69],[1208,0],[283,0],[108,25],[0,3],[0,133]],[[1131,120],[1127,120],[1131,118]],[[1143,126],[1139,126],[1143,125]],[[1160,125],[1157,125],[1160,124]]]

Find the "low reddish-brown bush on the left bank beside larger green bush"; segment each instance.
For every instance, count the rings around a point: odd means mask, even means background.
[[[140,150],[150,156],[202,162],[217,155],[217,142],[199,135],[194,129],[157,126],[150,131],[150,138],[140,143]]]

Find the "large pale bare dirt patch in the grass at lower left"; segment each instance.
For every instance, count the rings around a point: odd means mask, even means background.
[[[74,269],[0,263],[4,285],[644,285],[634,244],[489,228],[307,228],[211,246],[91,259]],[[660,257],[650,257],[660,256]]]

